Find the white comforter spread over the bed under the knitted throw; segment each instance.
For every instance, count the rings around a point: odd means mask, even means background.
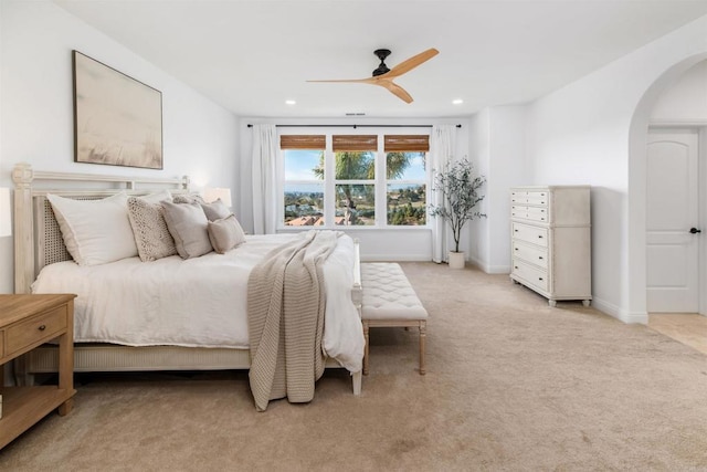
[[[247,277],[273,248],[297,234],[249,235],[226,254],[214,252],[155,262],[129,258],[42,269],[33,293],[75,293],[74,339],[127,346],[247,348]],[[323,348],[349,371],[361,370],[363,334],[351,302],[354,241],[339,238],[324,265],[326,314]]]

